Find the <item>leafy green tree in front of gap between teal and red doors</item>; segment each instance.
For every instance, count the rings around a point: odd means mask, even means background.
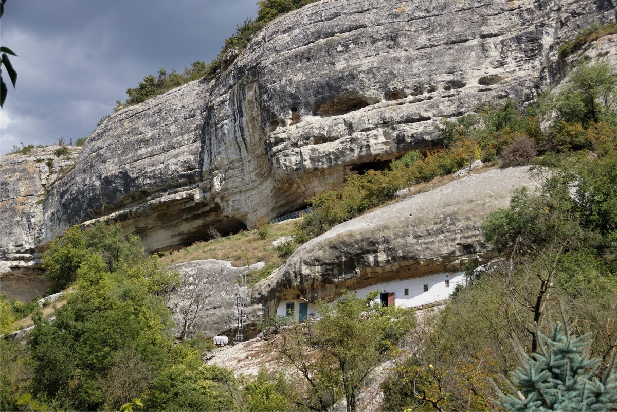
[[[309,384],[309,396],[296,400],[312,410],[326,410],[344,395],[347,411],[358,407],[358,392],[412,325],[413,315],[402,308],[381,308],[376,294],[358,299],[346,292],[331,305],[317,303],[321,318],[307,330],[294,324],[278,348]]]

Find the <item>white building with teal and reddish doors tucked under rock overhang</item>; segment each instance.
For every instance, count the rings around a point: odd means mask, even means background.
[[[463,272],[434,273],[420,278],[400,279],[352,290],[357,293],[358,298],[377,290],[379,295],[375,302],[381,302],[386,306],[409,308],[447,299],[458,284],[463,284],[463,280]],[[276,315],[289,316],[290,313],[293,313],[293,318],[299,321],[318,316],[315,305],[307,300],[281,300],[276,307]]]

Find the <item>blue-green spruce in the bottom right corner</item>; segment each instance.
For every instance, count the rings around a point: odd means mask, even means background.
[[[602,379],[597,377],[600,360],[589,357],[590,336],[573,336],[563,323],[553,325],[548,334],[536,326],[538,352],[528,356],[514,342],[521,366],[505,378],[510,393],[499,390],[497,405],[508,411],[608,411],[617,409],[615,358]]]

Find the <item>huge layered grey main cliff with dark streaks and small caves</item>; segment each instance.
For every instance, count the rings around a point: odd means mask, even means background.
[[[434,144],[442,117],[557,84],[558,43],[613,21],[610,0],[310,4],[230,52],[216,80],[107,118],[49,189],[36,242],[92,220],[149,250],[250,227]]]

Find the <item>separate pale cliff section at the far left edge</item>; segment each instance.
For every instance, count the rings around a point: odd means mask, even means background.
[[[44,294],[50,284],[36,266],[44,244],[43,200],[46,192],[73,167],[80,147],[57,145],[28,154],[0,157],[0,282],[2,293],[21,300]]]

